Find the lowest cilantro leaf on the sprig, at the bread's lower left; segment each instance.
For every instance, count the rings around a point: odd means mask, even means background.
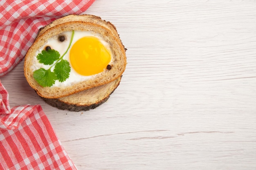
[[[38,70],[34,71],[33,77],[36,79],[38,84],[43,87],[52,86],[57,79],[54,72],[52,72],[50,69],[45,70],[44,68],[39,68]]]

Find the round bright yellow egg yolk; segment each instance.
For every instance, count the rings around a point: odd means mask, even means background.
[[[81,75],[94,75],[102,72],[110,60],[110,51],[93,36],[77,40],[70,49],[70,63]]]

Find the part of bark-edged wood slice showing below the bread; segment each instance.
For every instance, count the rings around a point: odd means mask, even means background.
[[[88,90],[57,99],[41,98],[47,104],[61,110],[70,110],[75,112],[87,111],[94,109],[106,102],[117,86],[119,86],[120,81],[121,77],[108,84],[90,88]]]

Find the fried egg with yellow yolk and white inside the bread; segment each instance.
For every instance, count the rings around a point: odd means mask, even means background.
[[[64,41],[60,41],[59,37],[65,37]],[[68,49],[72,31],[64,32],[49,39],[38,51],[36,56],[49,46],[60,53],[62,56]],[[39,63],[34,56],[33,70],[39,68],[49,69],[49,65]],[[74,37],[70,48],[63,56],[64,60],[70,63],[71,71],[69,77],[64,82],[55,81],[52,86],[70,86],[73,83],[81,82],[92,78],[104,70],[108,65],[112,64],[113,53],[110,44],[106,42],[101,35],[92,31],[74,31]],[[53,71],[54,67],[51,68]]]

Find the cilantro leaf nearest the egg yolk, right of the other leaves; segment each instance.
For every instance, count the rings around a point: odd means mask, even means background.
[[[54,67],[54,73],[60,82],[64,82],[69,77],[70,70],[70,63],[67,60],[61,60]]]

